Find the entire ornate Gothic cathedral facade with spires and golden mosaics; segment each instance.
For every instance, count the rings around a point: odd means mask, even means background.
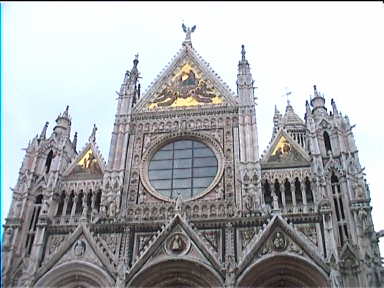
[[[121,86],[107,162],[68,107],[26,149],[4,224],[4,287],[383,287],[352,126],[314,86],[261,155],[245,48],[237,92],[192,46],[141,96]],[[271,117],[272,118],[272,117]],[[381,233],[382,234],[382,233]]]

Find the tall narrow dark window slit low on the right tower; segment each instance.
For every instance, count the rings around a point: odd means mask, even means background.
[[[346,239],[348,239],[348,227],[345,218],[340,182],[334,172],[332,172],[331,176],[331,187],[333,195],[333,204],[335,207],[336,221],[338,225],[340,245],[343,246]]]

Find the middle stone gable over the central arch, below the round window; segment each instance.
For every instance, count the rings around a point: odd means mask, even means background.
[[[148,242],[147,247],[129,269],[128,278],[133,277],[144,266],[164,256],[181,259],[194,257],[195,260],[197,258],[208,262],[216,271],[222,273],[221,265],[213,251],[204,245],[200,236],[178,213]]]

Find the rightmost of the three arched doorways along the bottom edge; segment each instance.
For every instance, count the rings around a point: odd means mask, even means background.
[[[328,287],[326,276],[313,264],[298,257],[272,256],[249,267],[239,287]]]

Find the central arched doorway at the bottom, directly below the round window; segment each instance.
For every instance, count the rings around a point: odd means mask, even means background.
[[[194,260],[168,259],[150,265],[126,287],[222,287],[220,275]]]

